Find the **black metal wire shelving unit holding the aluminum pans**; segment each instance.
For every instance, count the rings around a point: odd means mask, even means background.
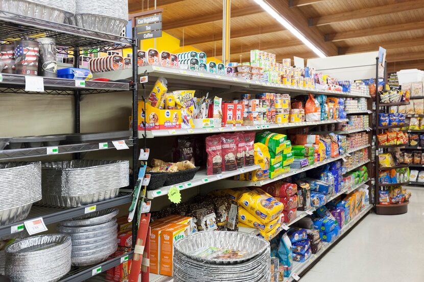
[[[58,46],[57,53],[74,56],[74,67],[79,67],[79,56],[82,52],[107,52],[108,50],[116,50],[122,48],[132,48],[132,61],[137,62],[137,34],[133,31],[132,38],[125,38],[96,31],[86,30],[72,25],[50,22],[46,20],[31,18],[27,16],[17,15],[0,11],[0,41],[12,43],[13,40],[24,39],[27,37],[51,37],[54,38]],[[13,40],[11,40],[13,38]],[[99,94],[106,92],[131,91],[132,92],[132,115],[134,124],[137,124],[137,64],[133,65],[128,78],[129,82],[103,82],[103,81],[85,81],[85,84],[77,83],[75,80],[60,78],[43,78],[44,92],[28,92],[25,91],[26,77],[18,74],[2,74],[0,88],[3,93],[36,93],[36,94],[59,94],[74,96],[74,133],[80,133],[80,101],[81,95]],[[132,173],[131,185],[137,180],[138,172],[138,131],[137,126],[132,129],[133,138],[124,140],[128,146],[132,147]],[[107,143],[107,146],[105,145]],[[102,146],[100,146],[102,144]],[[113,148],[111,140],[99,142],[88,142],[83,144],[59,145],[54,153],[65,154],[75,153],[76,158],[80,158],[80,152],[101,150],[105,148]],[[20,158],[37,158],[50,155],[48,147],[12,149],[0,151],[0,161],[14,160]],[[92,203],[88,206],[76,208],[60,208],[40,206],[34,204],[30,215],[27,219],[6,226],[0,226],[0,237],[9,236],[12,231],[20,232],[25,229],[23,222],[34,218],[42,217],[45,224],[53,224],[59,221],[84,215],[96,210],[103,210],[120,206],[121,204],[130,203],[132,200],[130,193],[120,193],[113,199]],[[133,227],[136,226],[133,224]],[[136,230],[136,229],[135,229]],[[114,266],[119,265],[125,260],[132,258],[130,248],[122,249],[125,251],[123,255],[117,258],[109,259],[103,263],[89,267],[74,267],[60,281],[80,282],[90,278],[93,275],[104,272]]]

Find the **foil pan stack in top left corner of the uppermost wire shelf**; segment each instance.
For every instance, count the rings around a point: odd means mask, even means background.
[[[73,16],[75,0],[2,0],[0,10],[19,15],[62,23],[65,16]]]

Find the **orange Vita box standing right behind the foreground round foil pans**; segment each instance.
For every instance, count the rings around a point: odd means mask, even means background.
[[[174,242],[189,236],[189,224],[172,224],[162,230],[160,234],[160,262],[159,273],[161,275],[172,276],[172,259],[174,255]],[[152,253],[150,253],[151,257]]]

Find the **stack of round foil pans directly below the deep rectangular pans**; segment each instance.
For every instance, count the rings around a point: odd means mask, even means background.
[[[100,263],[117,249],[117,209],[106,209],[62,221],[59,232],[72,237],[72,265]]]

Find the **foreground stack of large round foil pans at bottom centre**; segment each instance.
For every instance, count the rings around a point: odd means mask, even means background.
[[[212,255],[211,248],[233,252]],[[174,244],[175,282],[269,282],[270,264],[269,242],[250,234],[198,232]]]

